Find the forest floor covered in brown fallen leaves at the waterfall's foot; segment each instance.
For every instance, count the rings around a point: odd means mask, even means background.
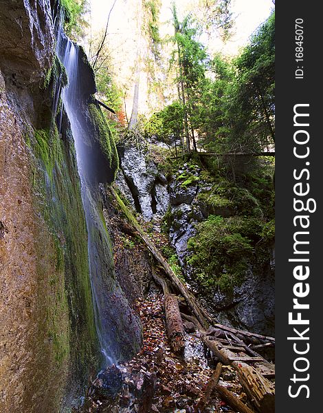
[[[201,412],[197,404],[216,361],[205,353],[196,332],[186,333],[182,357],[172,353],[166,337],[163,295],[155,284],[145,299],[137,301],[137,306],[143,326],[142,350],[128,363],[118,366],[119,370],[115,366],[108,369],[105,383],[99,375],[89,388],[84,407],[78,412]],[[119,382],[115,394],[109,390],[109,375],[112,387]],[[247,401],[230,366],[223,366],[219,384],[244,403]],[[214,392],[203,412],[230,413],[234,410]]]

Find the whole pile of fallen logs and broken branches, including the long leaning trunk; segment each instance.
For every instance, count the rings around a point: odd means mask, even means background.
[[[148,250],[151,251],[159,268],[162,269],[159,275],[154,274],[154,278],[163,288],[166,330],[172,350],[176,353],[183,352],[185,340],[182,320],[184,319],[194,324],[194,328],[205,347],[219,361],[205,389],[205,393],[199,405],[197,405],[196,412],[203,412],[213,391],[221,395],[237,412],[252,412],[234,394],[218,384],[222,365],[234,368],[254,410],[260,413],[274,412],[275,390],[273,379],[275,376],[275,366],[257,352],[257,350],[274,347],[274,337],[236,330],[217,323],[197,302],[186,285],[175,275],[168,262],[162,257],[151,239],[124,205],[115,189],[111,188],[111,193],[130,223],[135,227]],[[170,293],[170,286],[175,294]],[[179,310],[181,298],[178,295],[181,295],[186,301],[185,313],[181,313]]]

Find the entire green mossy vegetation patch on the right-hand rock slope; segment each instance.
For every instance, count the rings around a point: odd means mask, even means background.
[[[197,234],[188,242],[188,263],[206,290],[219,286],[230,292],[243,282],[248,268],[263,268],[270,262],[274,245],[272,177],[258,169],[239,178],[234,184],[223,176],[214,177],[211,189],[199,197],[211,214],[197,224]],[[254,185],[256,179],[262,187]]]

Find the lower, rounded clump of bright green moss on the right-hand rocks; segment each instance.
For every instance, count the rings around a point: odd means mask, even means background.
[[[210,215],[197,224],[197,234],[188,242],[188,262],[206,290],[219,286],[232,293],[245,279],[249,266],[269,263],[273,240],[274,221]]]

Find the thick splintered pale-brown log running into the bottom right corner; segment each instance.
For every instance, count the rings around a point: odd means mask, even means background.
[[[236,354],[227,348],[223,348],[221,343],[215,340],[211,341],[205,336],[202,336],[202,341],[216,357],[219,357],[223,364],[230,365],[236,370],[241,385],[260,413],[273,413],[275,411],[275,390],[273,383],[263,377],[256,368],[245,363],[245,361],[234,360]]]

